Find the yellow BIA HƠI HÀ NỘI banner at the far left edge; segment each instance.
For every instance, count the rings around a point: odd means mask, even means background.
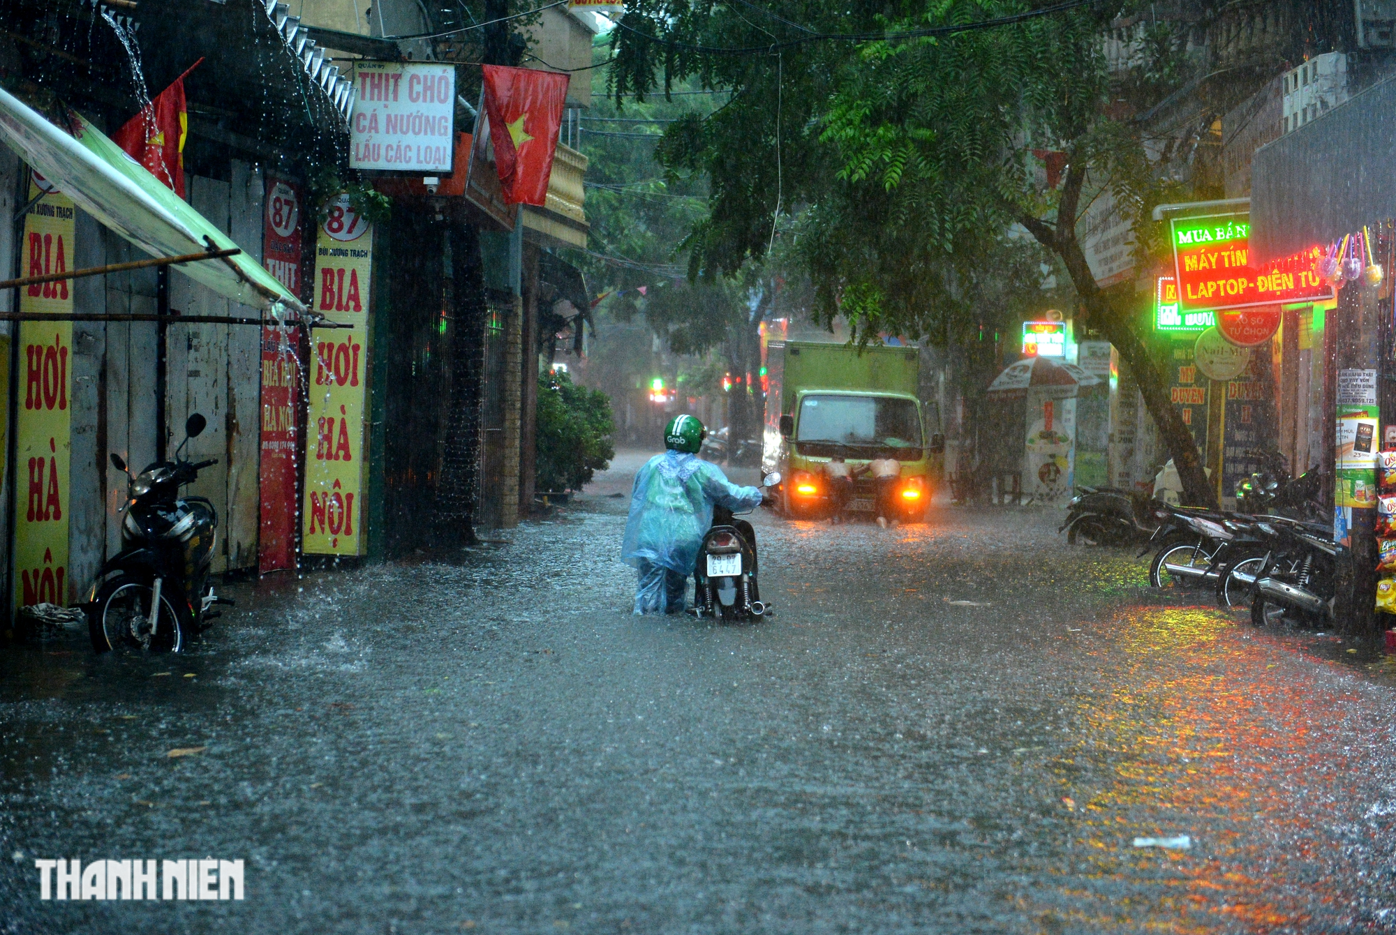
[[[31,179],[29,198],[39,194]],[[24,218],[25,276],[73,268],[73,202],[50,191]],[[20,311],[71,314],[68,279],[25,286]],[[20,399],[15,419],[14,596],[20,607],[66,604],[68,581],[68,454],[73,410],[73,322],[20,322]]]

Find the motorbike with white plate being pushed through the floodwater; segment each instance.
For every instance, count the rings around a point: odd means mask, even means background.
[[[775,498],[771,490],[780,474],[762,479],[762,505]],[[716,620],[758,620],[771,607],[761,600],[757,582],[757,530],[725,507],[712,511],[712,528],[702,539],[694,562],[694,614]]]

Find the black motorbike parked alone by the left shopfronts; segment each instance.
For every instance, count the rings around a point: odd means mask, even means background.
[[[218,512],[205,497],[180,497],[198,472],[218,459],[188,462],[180,452],[208,420],[194,413],[184,424],[184,441],[174,461],[159,461],[131,477],[126,462],[112,452],[112,463],[127,476],[121,551],[106,561],[92,583],[84,610],[92,648],[177,653],[218,617],[218,597],[208,581],[218,537]]]

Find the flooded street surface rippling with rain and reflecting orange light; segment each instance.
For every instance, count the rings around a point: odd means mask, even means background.
[[[511,544],[240,585],[183,657],[4,649],[0,934],[1396,931],[1368,650],[1016,509],[758,514],[772,618],[635,618],[635,463]],[[40,902],[56,857],[246,899]]]

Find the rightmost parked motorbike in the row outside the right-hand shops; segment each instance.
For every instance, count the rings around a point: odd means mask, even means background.
[[[1255,528],[1268,553],[1251,582],[1251,622],[1312,625],[1332,620],[1337,594],[1332,526],[1268,518]]]

